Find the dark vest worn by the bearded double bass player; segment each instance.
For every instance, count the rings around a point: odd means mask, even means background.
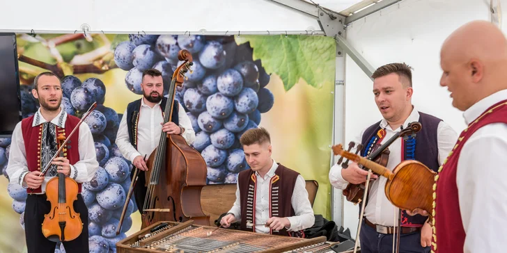
[[[142,98],[141,98],[142,99]],[[139,121],[139,110],[141,109],[141,99],[131,102],[127,106],[127,115],[123,115],[123,117],[127,116],[127,129],[129,132],[129,139],[132,146],[137,149],[137,122]],[[162,113],[164,113],[166,107],[167,99],[166,97],[162,97],[162,103],[160,103],[160,108],[162,109]],[[171,121],[174,124],[179,125],[178,119],[178,110],[180,108],[180,104],[175,99],[173,104],[173,115],[171,117]]]

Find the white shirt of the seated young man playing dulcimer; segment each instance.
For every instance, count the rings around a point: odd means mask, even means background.
[[[269,172],[264,177],[260,177],[260,174],[255,172],[257,177],[257,190],[256,190],[256,217],[255,224],[265,224],[270,218],[270,181],[274,177],[274,172],[278,168],[278,164],[273,160],[273,165]],[[233,208],[228,213],[233,213],[235,221],[241,220],[241,202],[240,202],[240,183],[236,183],[236,201],[234,202]],[[310,200],[308,198],[308,192],[306,191],[306,182],[303,177],[299,174],[297,176],[294,191],[292,192],[292,198],[290,203],[292,209],[294,209],[295,216],[287,217],[290,222],[288,231],[299,231],[307,229],[315,223],[315,216],[313,215],[313,209],[311,208]],[[270,228],[264,227],[264,225],[257,225],[256,232],[269,234]]]

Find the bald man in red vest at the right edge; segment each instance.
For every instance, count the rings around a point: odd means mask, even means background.
[[[432,251],[507,252],[507,40],[489,22],[470,22],[440,57],[440,85],[468,127],[433,187]]]

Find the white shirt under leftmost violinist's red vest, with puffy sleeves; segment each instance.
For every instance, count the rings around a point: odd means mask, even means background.
[[[60,120],[60,117],[63,120]],[[51,120],[51,123],[56,124],[61,128],[65,128],[65,122],[67,120],[67,113],[65,110],[60,110],[60,113]],[[37,113],[33,116],[32,126],[38,126],[47,120],[40,114],[40,108]],[[72,130],[72,129],[71,129]],[[99,167],[97,161],[97,155],[95,154],[95,143],[93,142],[93,136],[91,135],[90,128],[86,122],[81,122],[79,125],[79,161],[75,164],[70,165],[70,178],[75,179],[77,183],[84,183],[90,181],[95,175]],[[37,145],[33,143],[33,145]],[[45,167],[45,165],[43,165]],[[41,170],[44,168],[42,167]],[[28,164],[26,163],[26,150],[24,148],[24,139],[21,129],[21,122],[16,124],[13,131],[13,136],[10,143],[10,154],[7,165],[7,174],[10,182],[19,183],[23,188],[28,188],[26,183],[23,181],[24,176],[29,173]],[[49,179],[53,177],[45,177],[41,185],[42,193],[45,193],[46,184]],[[38,193],[38,194],[42,194]]]

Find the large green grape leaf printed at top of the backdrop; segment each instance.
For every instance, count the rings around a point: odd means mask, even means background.
[[[286,91],[304,79],[321,88],[334,83],[336,42],[331,37],[306,35],[236,36],[237,44],[250,42],[253,60],[259,59],[268,74],[276,73]],[[333,73],[333,74],[331,74]]]

